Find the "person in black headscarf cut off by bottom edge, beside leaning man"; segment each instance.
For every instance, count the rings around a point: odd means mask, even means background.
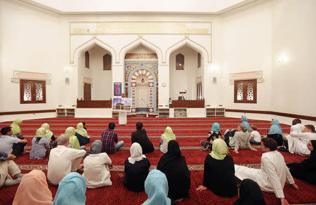
[[[265,198],[260,187],[254,180],[246,178],[242,180],[238,190],[239,199],[232,205],[265,205]]]

